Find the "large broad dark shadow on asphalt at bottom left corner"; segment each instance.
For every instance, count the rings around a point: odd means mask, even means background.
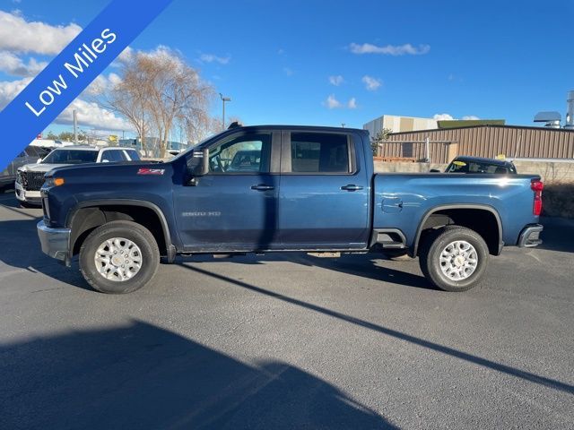
[[[2,345],[0,377],[3,428],[395,428],[295,366],[141,322]]]

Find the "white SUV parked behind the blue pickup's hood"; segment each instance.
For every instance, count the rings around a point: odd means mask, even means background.
[[[29,147],[30,148],[30,147]],[[14,184],[16,198],[22,205],[41,206],[39,189],[44,175],[53,168],[85,163],[107,163],[139,160],[136,150],[129,148],[96,148],[93,146],[66,146],[52,150],[35,164],[18,168]]]

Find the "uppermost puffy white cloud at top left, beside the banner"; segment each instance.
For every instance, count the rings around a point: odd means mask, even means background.
[[[82,30],[77,24],[27,22],[18,13],[0,11],[0,49],[12,52],[58,54]]]

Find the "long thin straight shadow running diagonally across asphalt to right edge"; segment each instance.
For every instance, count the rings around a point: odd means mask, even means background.
[[[567,393],[574,395],[574,385],[570,385],[569,383],[562,383],[561,381],[557,381],[557,380],[554,380],[552,378],[546,378],[546,377],[540,376],[538,374],[532,374],[530,372],[525,372],[523,370],[519,370],[515,367],[502,365],[500,363],[496,363],[494,361],[491,361],[487,358],[474,356],[472,354],[468,354],[466,352],[459,351],[458,349],[455,349],[455,348],[448,348],[448,347],[445,347],[445,346],[440,345],[438,343],[431,342],[430,340],[424,340],[421,338],[417,338],[416,336],[406,334],[402,331],[396,331],[396,330],[384,327],[382,325],[378,325],[375,323],[370,323],[370,322],[365,321],[365,320],[361,320],[360,318],[356,318],[352,315],[342,314],[340,312],[336,312],[334,310],[327,309],[326,307],[323,307],[323,306],[313,305],[311,303],[304,302],[304,301],[299,300],[297,298],[284,296],[281,293],[277,293],[275,291],[270,291],[270,290],[267,290],[265,288],[260,288],[260,287],[248,284],[247,282],[243,282],[240,280],[234,280],[234,279],[231,279],[227,276],[220,275],[218,273],[213,273],[212,271],[205,271],[204,269],[188,266],[187,264],[182,264],[181,266],[186,268],[189,271],[195,271],[196,273],[200,273],[200,274],[203,274],[205,276],[210,276],[210,277],[215,278],[217,280],[222,280],[222,281],[224,281],[230,285],[233,285],[233,286],[236,286],[239,288],[246,288],[246,289],[251,290],[255,293],[262,294],[262,295],[265,295],[267,297],[274,297],[278,300],[289,303],[291,305],[298,305],[300,307],[304,307],[304,308],[309,309],[311,311],[315,311],[315,312],[318,312],[320,314],[325,314],[325,315],[331,316],[333,318],[344,321],[346,323],[352,323],[352,324],[358,325],[358,326],[363,327],[363,328],[368,329],[368,330],[377,331],[378,333],[382,333],[382,334],[385,334],[387,336],[391,336],[391,337],[399,339],[399,340],[404,340],[404,341],[413,343],[414,345],[418,345],[422,348],[428,348],[428,349],[431,349],[433,351],[436,351],[436,352],[439,352],[442,354],[446,354],[450,357],[457,357],[457,358],[460,358],[461,360],[465,360],[465,361],[468,361],[470,363],[474,363],[475,365],[487,367],[491,370],[495,370],[495,371],[501,372],[503,374],[509,374],[511,376],[516,376],[517,378],[524,379],[530,383],[539,383],[541,385],[552,388],[554,390],[564,391],[564,392],[567,392]]]

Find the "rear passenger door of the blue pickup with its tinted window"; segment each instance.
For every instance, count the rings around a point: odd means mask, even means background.
[[[370,236],[370,173],[354,133],[282,135],[278,228],[283,248],[363,248]]]

